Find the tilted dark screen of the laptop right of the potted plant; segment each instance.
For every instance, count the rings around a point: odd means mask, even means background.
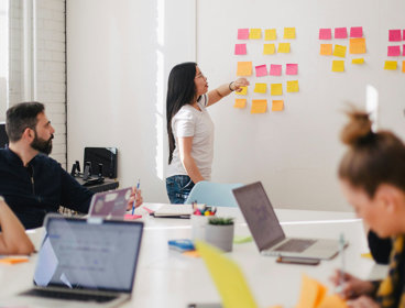
[[[260,182],[232,191],[260,251],[285,239],[273,206]]]

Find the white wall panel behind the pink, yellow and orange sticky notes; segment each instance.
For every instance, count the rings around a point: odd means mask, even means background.
[[[319,210],[348,210],[337,179],[344,147],[339,132],[346,122],[347,101],[365,107],[377,101],[380,128],[405,136],[405,57],[387,57],[388,30],[405,29],[403,0],[200,0],[197,1],[197,62],[210,89],[237,78],[238,61],[255,65],[282,64],[281,77],[249,77],[245,109],[234,109],[236,96],[210,107],[216,125],[212,180],[262,180],[273,206]],[[362,26],[364,55],[349,54],[349,40],[319,41],[321,28]],[[238,29],[276,29],[276,45],[291,42],[289,54],[262,55],[264,38],[238,41]],[[295,28],[295,40],[283,40],[283,29]],[[234,55],[234,44],[247,42],[248,55]],[[333,56],[320,56],[320,43],[348,47],[344,73],[332,73]],[[405,41],[399,42],[401,46]],[[398,45],[398,43],[396,44]],[[402,47],[401,47],[402,50]],[[352,65],[354,57],[363,65]],[[398,69],[384,70],[397,59]],[[286,76],[285,64],[297,63],[298,75]],[[286,80],[298,80],[299,92],[286,94]],[[254,82],[266,82],[267,94],[253,94]],[[269,86],[282,82],[284,95],[271,97]],[[252,99],[267,99],[267,112],[251,114]],[[271,112],[272,99],[284,99],[283,112]]]

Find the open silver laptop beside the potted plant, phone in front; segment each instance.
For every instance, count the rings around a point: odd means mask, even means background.
[[[260,182],[232,193],[262,254],[311,258],[331,258],[338,254],[338,240],[286,238]]]

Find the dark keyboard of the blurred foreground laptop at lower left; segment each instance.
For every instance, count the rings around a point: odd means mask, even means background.
[[[21,295],[39,296],[54,299],[66,299],[66,300],[97,301],[97,302],[107,302],[117,298],[117,296],[78,294],[70,292],[43,290],[43,289],[30,289],[28,292],[22,293]]]

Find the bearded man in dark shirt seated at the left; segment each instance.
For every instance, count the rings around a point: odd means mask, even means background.
[[[92,193],[83,187],[55,160],[54,128],[40,102],[22,102],[7,111],[9,147],[0,150],[0,195],[25,229],[43,224],[46,213],[59,206],[87,213]],[[142,204],[140,191],[136,207]]]

